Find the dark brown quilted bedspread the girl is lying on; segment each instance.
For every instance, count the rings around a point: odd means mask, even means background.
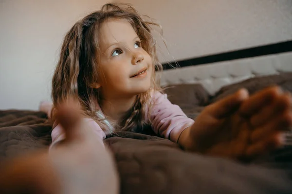
[[[289,79],[284,81],[286,85]],[[184,111],[192,116],[201,109],[199,103]],[[44,113],[0,111],[0,160],[47,148],[51,130]],[[169,140],[153,135],[120,132],[104,141],[117,162],[121,193],[292,193],[290,148],[245,165],[184,152]]]

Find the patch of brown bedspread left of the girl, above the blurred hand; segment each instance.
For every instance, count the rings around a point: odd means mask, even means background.
[[[52,126],[42,112],[0,111],[0,160],[47,148],[51,144]]]

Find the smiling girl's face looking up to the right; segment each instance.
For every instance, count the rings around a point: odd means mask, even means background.
[[[103,96],[132,97],[146,92],[151,85],[152,60],[131,24],[123,19],[104,22],[99,40]]]

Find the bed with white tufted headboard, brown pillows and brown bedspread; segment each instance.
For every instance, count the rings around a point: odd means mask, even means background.
[[[292,92],[292,52],[168,69],[161,84],[167,86],[170,101],[195,118],[205,106],[241,87],[255,93],[277,84]],[[51,130],[45,113],[1,110],[0,162],[47,149]],[[150,130],[119,132],[104,142],[114,153],[122,194],[292,193],[289,146],[243,164],[184,152]]]

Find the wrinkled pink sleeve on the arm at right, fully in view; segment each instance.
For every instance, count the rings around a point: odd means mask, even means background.
[[[194,120],[188,118],[178,105],[172,104],[166,94],[155,92],[152,99],[154,102],[150,113],[152,129],[156,134],[177,142],[183,130],[192,126]]]

